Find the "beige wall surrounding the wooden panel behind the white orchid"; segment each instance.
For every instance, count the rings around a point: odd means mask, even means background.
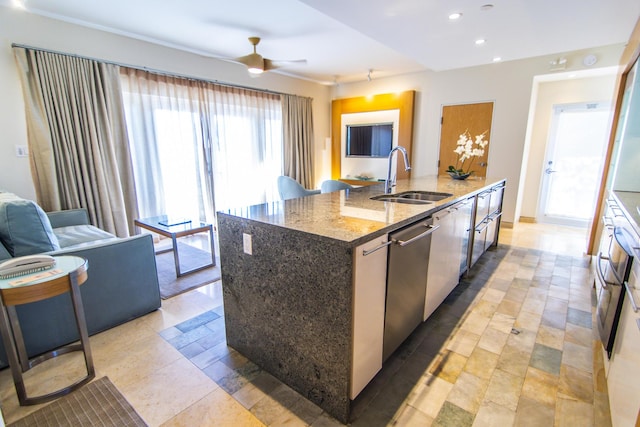
[[[608,67],[618,64],[623,49],[623,45],[616,45],[590,49],[589,53],[596,54],[598,66]],[[567,53],[567,70],[582,70],[581,60],[586,53]],[[503,220],[513,223],[517,218],[518,188],[534,77],[548,74],[549,61],[557,56],[384,79],[376,79],[374,73],[371,82],[335,86],[332,96],[339,99],[415,90],[413,176],[437,173],[443,105],[493,101],[487,175],[507,179]]]

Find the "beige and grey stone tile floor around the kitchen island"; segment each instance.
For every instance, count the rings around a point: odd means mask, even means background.
[[[434,315],[354,404],[354,426],[607,426],[606,381],[592,328],[585,232],[503,228]],[[262,371],[224,338],[220,284],[91,337],[108,376],[150,426],[342,425]],[[81,376],[67,355],[27,373],[30,393]],[[20,407],[0,371],[6,422]]]

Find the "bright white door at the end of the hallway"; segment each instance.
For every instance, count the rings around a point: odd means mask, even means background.
[[[607,103],[554,106],[538,222],[588,226],[595,211],[610,126]]]

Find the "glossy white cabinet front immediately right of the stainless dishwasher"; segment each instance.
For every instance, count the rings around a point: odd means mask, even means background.
[[[431,237],[423,320],[456,287],[461,270],[466,270],[472,206],[473,198],[433,214],[433,226],[439,228]]]

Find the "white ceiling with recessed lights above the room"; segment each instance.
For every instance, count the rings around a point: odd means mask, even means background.
[[[197,54],[307,59],[321,82],[442,71],[625,43],[639,0],[0,0]],[[492,5],[493,7],[483,7]],[[448,15],[461,12],[458,21]],[[475,40],[486,39],[477,46]],[[144,64],[141,64],[144,65]],[[239,65],[240,67],[241,65]],[[280,71],[280,70],[278,70]]]

